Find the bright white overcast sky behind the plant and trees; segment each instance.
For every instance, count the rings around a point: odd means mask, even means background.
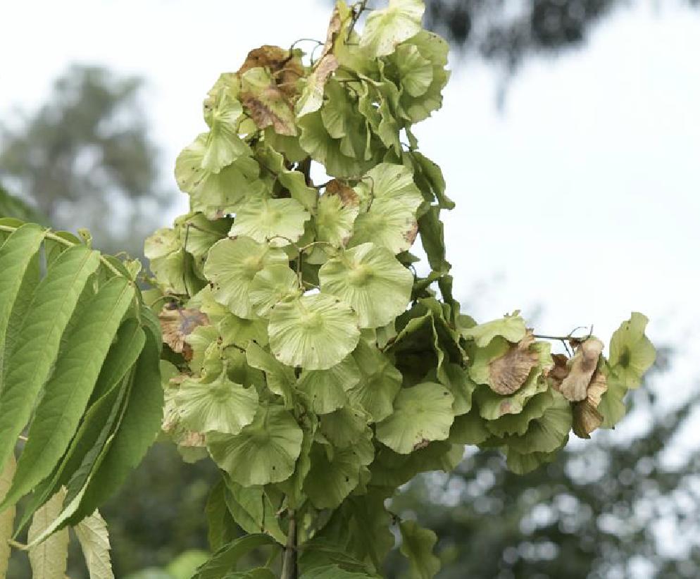
[[[137,73],[168,173],[204,129],[201,99],[220,72],[251,47],[323,37],[329,13],[323,0],[0,7],[0,118],[41,103],[69,63]],[[494,70],[459,67],[444,108],[416,132],[458,204],[446,236],[467,311],[485,320],[520,308],[543,333],[594,323],[604,339],[642,311],[652,339],[679,351],[673,397],[687,390],[700,356],[698,55],[700,11],[639,0],[584,49],[530,59],[502,112]]]

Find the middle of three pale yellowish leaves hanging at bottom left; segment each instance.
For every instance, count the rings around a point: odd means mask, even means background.
[[[27,535],[31,544],[51,525],[61,512],[65,490],[59,490],[49,502],[46,502],[32,518]],[[32,577],[35,579],[64,579],[68,565],[68,529],[46,539],[29,549],[29,561],[32,565]]]

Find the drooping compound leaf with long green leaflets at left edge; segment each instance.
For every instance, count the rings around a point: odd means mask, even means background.
[[[136,262],[11,219],[0,220],[0,243],[0,463],[11,473],[2,531],[33,521],[35,576],[62,579],[65,527],[111,496],[158,433],[161,330],[142,303]],[[30,491],[13,530],[14,506]]]

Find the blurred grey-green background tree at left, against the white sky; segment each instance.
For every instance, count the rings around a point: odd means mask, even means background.
[[[0,179],[54,227],[89,228],[105,251],[142,254],[169,202],[142,87],[138,77],[70,67],[38,111],[0,123]]]

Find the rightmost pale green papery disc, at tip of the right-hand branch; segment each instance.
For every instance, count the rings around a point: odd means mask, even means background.
[[[642,376],[654,365],[656,349],[644,330],[649,320],[638,312],[615,330],[610,340],[611,373],[625,388],[637,388]]]

